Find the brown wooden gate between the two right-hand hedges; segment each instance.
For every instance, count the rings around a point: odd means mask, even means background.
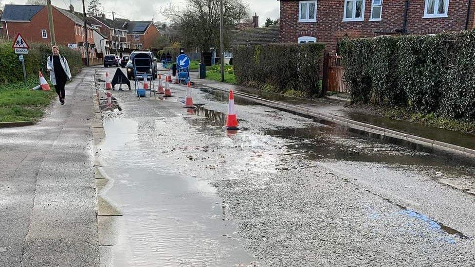
[[[324,91],[347,93],[347,85],[343,79],[345,69],[341,65],[341,55],[330,56],[329,53],[325,53],[324,56],[326,57],[323,61],[323,86],[326,87]]]

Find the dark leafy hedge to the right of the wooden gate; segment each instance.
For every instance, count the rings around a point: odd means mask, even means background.
[[[354,101],[475,119],[475,32],[347,39],[340,48]]]

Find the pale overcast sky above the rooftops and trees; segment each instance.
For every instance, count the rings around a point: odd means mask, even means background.
[[[24,4],[26,0],[2,0],[3,3]],[[55,6],[61,8],[69,8],[70,3],[73,4],[74,10],[82,11],[81,0],[52,0]],[[89,0],[86,0],[86,10]],[[164,21],[165,18],[160,12],[165,6],[170,4],[170,0],[101,0],[106,11],[106,17],[112,18],[111,13],[116,12],[126,18],[134,20],[151,20]],[[174,5],[186,3],[186,0],[172,0]],[[244,0],[249,4],[250,13],[257,13],[259,16],[259,24],[263,25],[266,18],[279,18],[280,2],[278,0]],[[119,18],[122,16],[118,15]]]

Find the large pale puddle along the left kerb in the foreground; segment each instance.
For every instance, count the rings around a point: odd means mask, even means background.
[[[259,266],[242,249],[215,189],[180,174],[176,160],[162,156],[163,148],[145,142],[150,123],[121,117],[104,121],[101,157],[114,167],[103,168],[115,180],[107,195],[123,212],[110,266]]]

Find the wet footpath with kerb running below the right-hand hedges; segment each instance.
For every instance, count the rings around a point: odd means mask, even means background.
[[[197,87],[208,87],[222,91],[232,89],[235,95],[250,98],[262,105],[344,125],[376,138],[395,139],[398,142],[412,146],[422,145],[430,149],[475,157],[475,135],[472,134],[386,119],[366,114],[363,111],[349,110],[344,107],[347,101],[342,99],[325,97],[310,100],[288,97],[243,86],[198,79],[198,75],[193,73],[191,76]]]

